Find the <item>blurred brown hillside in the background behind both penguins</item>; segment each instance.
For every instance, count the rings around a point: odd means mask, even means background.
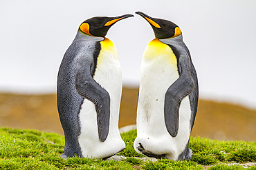
[[[124,88],[119,127],[136,124],[138,89]],[[39,129],[63,134],[56,94],[0,94],[0,127]],[[256,140],[256,110],[199,100],[192,136],[219,140]]]

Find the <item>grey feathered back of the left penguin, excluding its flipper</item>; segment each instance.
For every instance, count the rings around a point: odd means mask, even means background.
[[[79,36],[81,35],[77,33],[77,37],[64,54],[57,76],[57,107],[60,121],[64,129],[65,141],[73,143],[73,145],[65,144],[66,156],[74,154],[82,156],[82,153],[73,153],[81,150],[77,138],[80,134],[79,113],[84,101],[75,89],[75,76],[79,68],[84,65],[91,65],[91,75],[93,75],[100,52],[99,41],[80,39]],[[74,135],[76,140],[71,138]],[[75,148],[66,148],[66,146]]]

